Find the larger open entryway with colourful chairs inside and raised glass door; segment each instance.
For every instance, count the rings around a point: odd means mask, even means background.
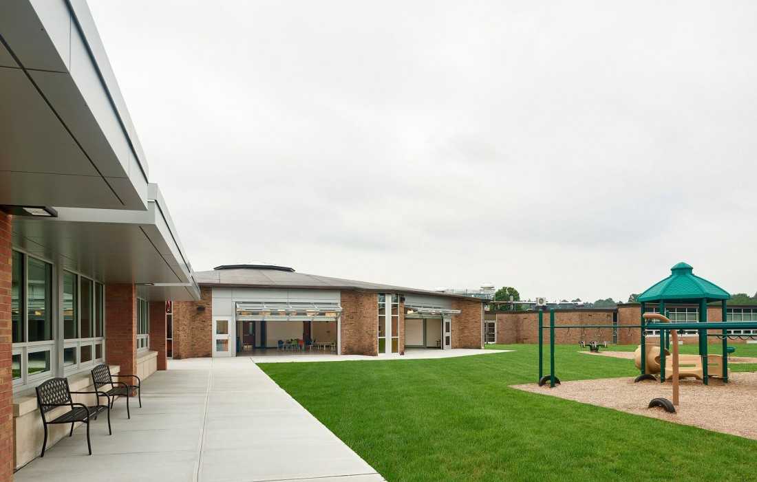
[[[330,301],[237,302],[236,353],[338,353],[341,311]]]

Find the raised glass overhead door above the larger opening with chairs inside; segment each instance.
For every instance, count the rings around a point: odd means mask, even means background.
[[[341,315],[339,303],[328,301],[247,301],[239,302],[236,306],[237,319],[243,322],[332,322]]]

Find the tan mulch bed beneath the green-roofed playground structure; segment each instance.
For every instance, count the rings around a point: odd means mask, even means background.
[[[647,408],[653,398],[673,400],[670,381],[634,383],[634,378],[605,378],[565,381],[554,388],[535,383],[512,388],[757,440],[757,373],[732,373],[727,384],[714,379],[705,385],[685,378],[678,387],[675,413],[659,407]]]

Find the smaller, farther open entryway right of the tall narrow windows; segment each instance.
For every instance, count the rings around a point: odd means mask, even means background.
[[[405,347],[452,347],[452,316],[459,309],[405,303]]]

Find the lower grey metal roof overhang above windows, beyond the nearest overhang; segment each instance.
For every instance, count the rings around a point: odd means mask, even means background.
[[[58,218],[14,217],[14,247],[103,283],[150,285],[150,300],[199,300],[157,185],[150,194],[146,211],[59,208]]]

